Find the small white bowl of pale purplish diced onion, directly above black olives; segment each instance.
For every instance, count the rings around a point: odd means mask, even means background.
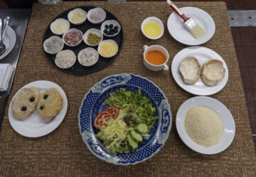
[[[93,23],[93,24],[102,23],[102,21],[105,20],[106,16],[107,16],[107,13],[102,8],[99,8],[99,7],[92,8],[87,13],[88,21],[90,21],[90,23]]]

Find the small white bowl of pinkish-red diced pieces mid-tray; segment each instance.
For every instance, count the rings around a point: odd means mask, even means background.
[[[63,34],[63,42],[65,45],[75,47],[82,42],[82,31],[71,28]]]

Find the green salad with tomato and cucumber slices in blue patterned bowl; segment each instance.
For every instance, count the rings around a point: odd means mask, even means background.
[[[110,105],[94,120],[94,127],[100,130],[96,137],[102,139],[112,154],[134,152],[139,143],[149,138],[149,130],[159,116],[154,116],[149,98],[138,91],[119,89],[110,93],[104,105]]]

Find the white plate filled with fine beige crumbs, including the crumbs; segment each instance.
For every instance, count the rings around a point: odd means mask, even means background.
[[[235,137],[235,121],[223,103],[208,96],[185,101],[176,114],[176,129],[182,141],[195,152],[217,154]]]

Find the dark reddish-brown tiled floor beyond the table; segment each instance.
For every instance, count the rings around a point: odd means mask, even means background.
[[[104,0],[103,0],[104,1]],[[128,0],[144,1],[144,0]],[[156,0],[159,1],[159,0]],[[184,1],[184,0],[176,0]],[[193,1],[193,0],[186,0]],[[207,1],[207,0],[195,0]],[[210,0],[215,1],[215,0]],[[228,7],[240,7],[244,9],[256,9],[256,0],[225,0]],[[8,8],[3,0],[0,0],[0,9]],[[245,100],[250,120],[252,134],[256,134],[256,27],[231,28],[238,64],[245,90]],[[256,151],[256,137],[253,137]]]

